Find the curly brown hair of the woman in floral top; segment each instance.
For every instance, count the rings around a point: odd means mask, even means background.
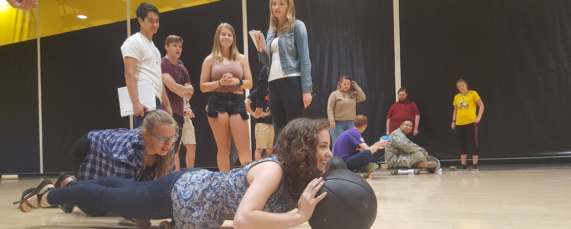
[[[321,174],[317,171],[317,134],[329,129],[327,119],[297,118],[284,127],[274,143],[272,156],[278,157],[283,184],[292,199],[299,200],[305,186]]]

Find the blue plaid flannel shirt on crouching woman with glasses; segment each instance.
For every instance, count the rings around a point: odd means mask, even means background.
[[[155,167],[144,166],[141,128],[94,130],[87,134],[91,150],[79,167],[79,181],[120,177],[132,181],[152,181]],[[174,171],[174,160],[170,171]]]

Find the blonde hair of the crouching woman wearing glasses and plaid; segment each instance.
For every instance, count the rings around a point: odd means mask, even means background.
[[[147,130],[147,132],[152,132],[156,125],[164,124],[174,126],[175,129],[178,129],[179,126],[176,123],[175,119],[172,118],[171,115],[168,115],[166,111],[156,109],[155,111],[149,112],[147,115],[144,116],[142,129]],[[171,148],[168,149],[169,152],[172,152],[173,145]],[[171,172],[171,161],[172,161],[172,153],[167,153],[165,156],[160,156],[156,160],[156,169],[155,169],[155,179],[159,179],[164,177]]]

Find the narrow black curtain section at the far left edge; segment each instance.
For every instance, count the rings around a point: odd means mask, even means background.
[[[0,174],[39,173],[36,39],[0,46]]]

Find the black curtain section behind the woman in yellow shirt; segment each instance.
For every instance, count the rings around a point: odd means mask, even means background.
[[[400,1],[402,85],[420,109],[418,143],[459,159],[456,80],[481,96],[481,158],[571,151],[571,2]]]

